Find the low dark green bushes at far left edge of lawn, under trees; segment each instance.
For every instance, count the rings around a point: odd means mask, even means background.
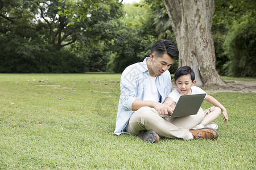
[[[84,73],[85,61],[67,50],[56,50],[21,39],[8,39],[0,50],[0,73]],[[1,42],[1,43],[2,43]]]

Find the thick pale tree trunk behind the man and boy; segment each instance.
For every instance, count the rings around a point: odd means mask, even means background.
[[[210,29],[213,0],[162,0],[166,6],[179,49],[179,66],[190,66],[196,86],[225,85],[215,69],[215,52]]]

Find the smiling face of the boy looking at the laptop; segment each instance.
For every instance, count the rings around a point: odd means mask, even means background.
[[[180,94],[183,95],[191,95],[191,87],[196,84],[196,80],[191,80],[191,75],[181,75],[174,83],[177,86],[177,90],[179,90]]]

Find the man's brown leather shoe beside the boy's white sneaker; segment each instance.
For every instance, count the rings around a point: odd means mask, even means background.
[[[202,128],[199,130],[189,130],[192,133],[194,139],[217,139],[218,132],[211,128]]]

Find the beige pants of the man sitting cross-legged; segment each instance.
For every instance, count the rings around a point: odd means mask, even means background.
[[[141,130],[154,130],[160,137],[187,140],[189,129],[199,125],[204,118],[203,109],[197,114],[176,118],[162,118],[155,109],[142,107],[131,116],[126,131],[138,135]]]

